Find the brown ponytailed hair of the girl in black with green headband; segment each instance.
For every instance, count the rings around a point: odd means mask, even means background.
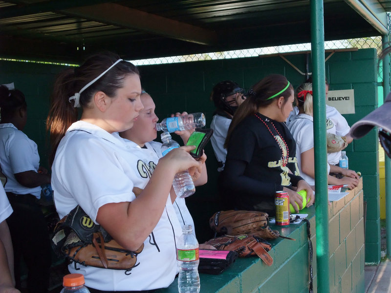
[[[238,126],[246,117],[257,113],[258,108],[272,104],[273,101],[281,96],[284,97],[284,105],[286,104],[293,90],[292,84],[290,84],[280,95],[272,99],[269,98],[281,91],[287,84],[288,80],[283,75],[270,74],[252,86],[251,90],[246,94],[246,100],[239,106],[238,110],[236,110],[228,128],[227,138],[224,143],[225,148],[227,148],[232,132],[235,130],[236,126]]]

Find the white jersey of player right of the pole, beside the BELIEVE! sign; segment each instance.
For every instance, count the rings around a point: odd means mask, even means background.
[[[338,112],[338,110],[332,106],[326,105],[326,131],[335,135],[345,136],[349,133],[350,126],[348,122]],[[339,163],[341,157],[341,151],[327,153],[327,163],[330,165],[336,165]]]

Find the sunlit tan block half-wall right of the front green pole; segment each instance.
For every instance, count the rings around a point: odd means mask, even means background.
[[[364,292],[363,184],[328,207],[330,292]]]

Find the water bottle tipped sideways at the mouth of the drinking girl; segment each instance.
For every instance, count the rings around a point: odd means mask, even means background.
[[[179,117],[164,118],[162,122],[156,123],[156,130],[174,132],[177,130],[193,129],[203,126],[205,126],[205,115],[203,113],[193,113]]]

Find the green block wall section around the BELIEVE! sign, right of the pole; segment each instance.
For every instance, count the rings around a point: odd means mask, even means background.
[[[334,54],[326,62],[329,90],[354,89],[355,113],[345,114],[351,126],[378,105],[377,55],[375,49],[363,49]],[[378,136],[372,129],[365,137],[354,140],[346,148],[349,168],[363,175],[364,201],[366,201],[365,261],[380,262],[380,208]]]

